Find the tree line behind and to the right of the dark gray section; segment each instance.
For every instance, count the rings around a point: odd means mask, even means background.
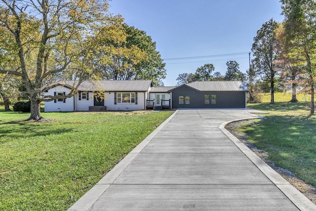
[[[249,88],[249,101],[256,101],[258,92],[269,91],[275,103],[275,91],[292,91],[290,102],[298,102],[296,93],[310,94],[314,113],[316,83],[316,1],[281,0],[284,20],[270,19],[257,31],[252,44],[253,59],[245,74],[236,61],[228,61],[222,76],[212,64],[196,72],[179,74],[178,84],[194,81],[243,80]],[[214,72],[214,73],[213,73]]]

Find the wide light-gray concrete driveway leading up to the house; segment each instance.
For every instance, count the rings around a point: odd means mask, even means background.
[[[251,110],[178,110],[69,211],[316,211],[229,133]]]

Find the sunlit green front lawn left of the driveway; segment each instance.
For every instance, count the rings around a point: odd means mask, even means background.
[[[67,210],[171,112],[0,112],[0,210]]]

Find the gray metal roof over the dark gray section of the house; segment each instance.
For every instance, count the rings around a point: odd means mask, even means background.
[[[206,81],[186,84],[199,91],[249,91],[242,81]]]

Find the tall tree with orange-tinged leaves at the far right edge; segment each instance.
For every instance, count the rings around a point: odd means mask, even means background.
[[[291,49],[297,60],[304,61],[305,84],[311,93],[311,113],[314,113],[316,58],[316,2],[315,0],[281,0],[284,15],[284,48]],[[288,52],[288,51],[287,51]]]

